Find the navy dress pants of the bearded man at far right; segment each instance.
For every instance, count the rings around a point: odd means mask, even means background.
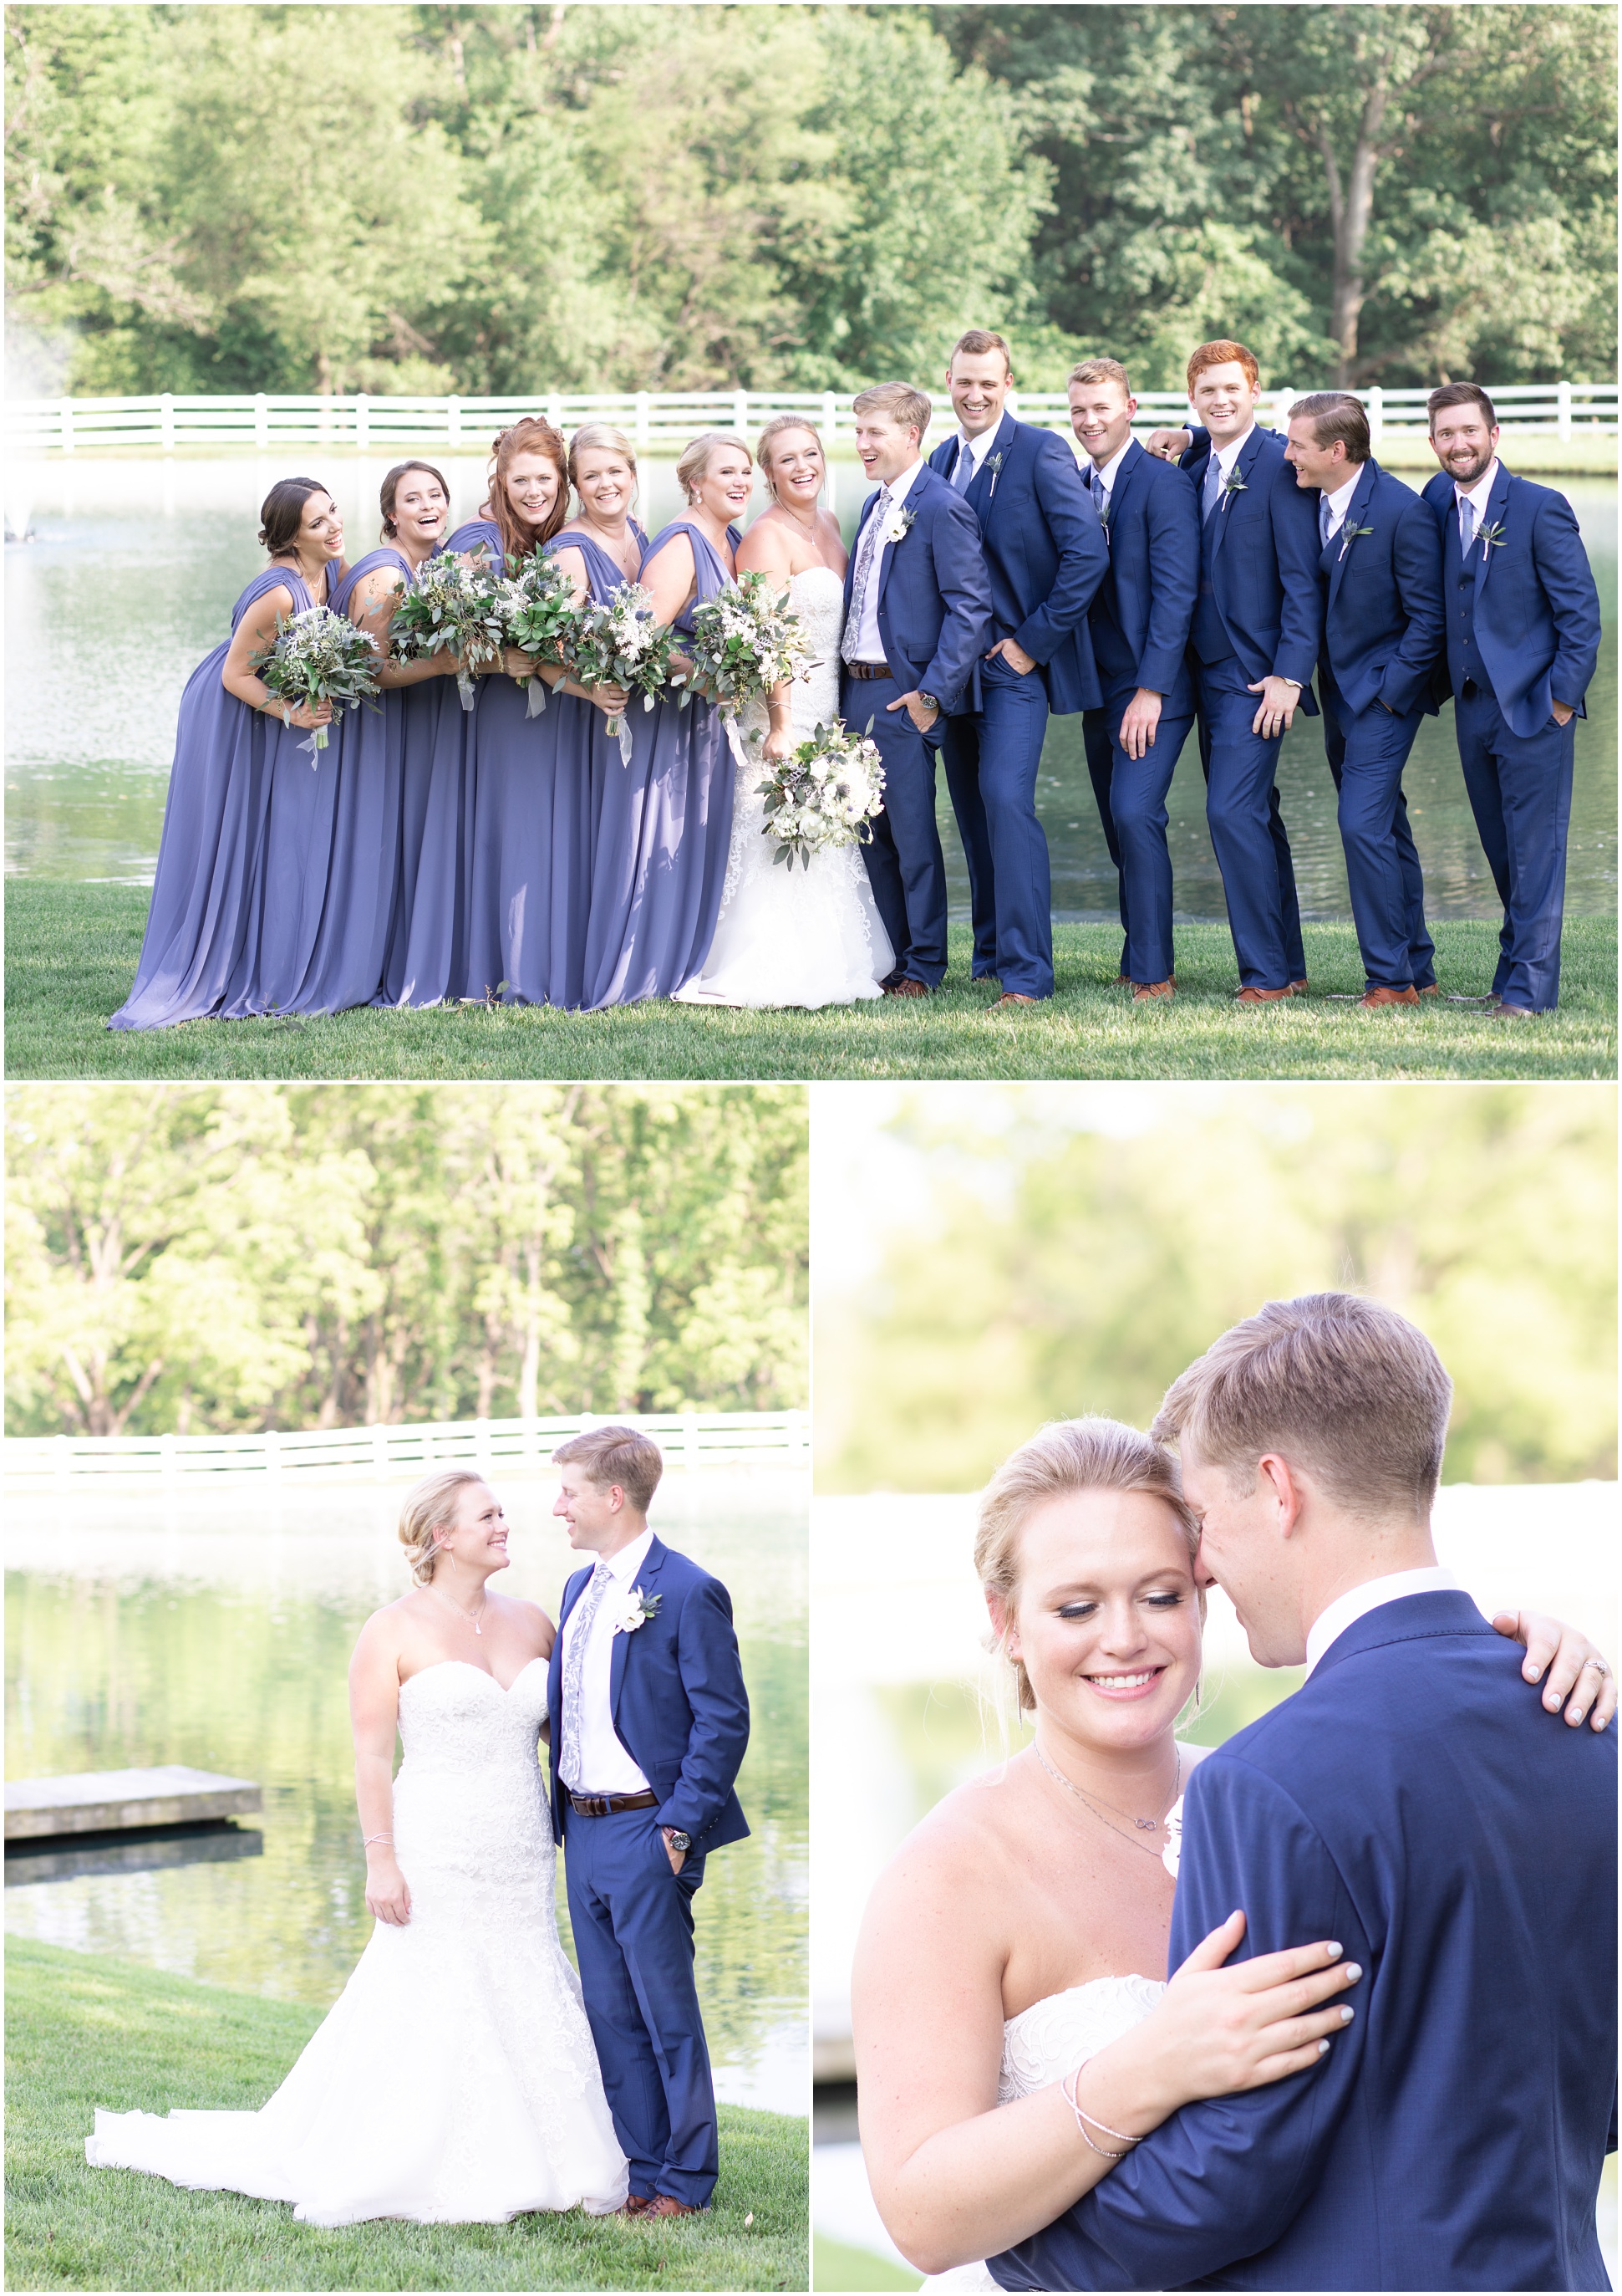
[[[1576,719],[1510,732],[1477,687],[1452,705],[1475,831],[1503,902],[1494,994],[1533,1013],[1560,1001],[1565,840],[1572,824]]]

